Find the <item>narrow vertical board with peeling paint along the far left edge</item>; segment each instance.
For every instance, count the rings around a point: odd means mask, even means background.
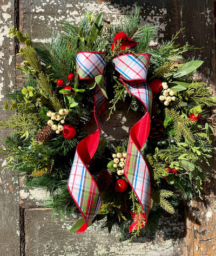
[[[8,32],[14,25],[14,1],[0,1],[0,119],[6,120],[11,114],[4,110],[3,100],[6,90],[13,90],[15,84],[14,42]],[[0,130],[0,137],[6,137],[9,130]],[[1,147],[3,141],[1,140]],[[0,255],[19,254],[19,205],[18,179],[16,172],[1,172],[4,157],[0,156]]]

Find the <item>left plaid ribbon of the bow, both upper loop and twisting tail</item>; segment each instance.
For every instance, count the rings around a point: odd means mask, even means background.
[[[104,70],[106,65],[105,55],[99,52],[79,52],[76,63],[78,63],[77,73],[79,76],[82,79],[91,79],[98,75],[98,72]],[[82,63],[82,69],[79,63]],[[85,64],[86,68],[84,68]],[[97,130],[78,143],[68,181],[69,192],[85,220],[84,225],[79,228],[77,233],[86,230],[102,206],[102,200],[96,182],[86,167],[97,150],[104,121],[105,96],[98,86],[95,88],[94,110]]]

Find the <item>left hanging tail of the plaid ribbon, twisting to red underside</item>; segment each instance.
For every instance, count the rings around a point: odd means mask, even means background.
[[[79,54],[79,56],[82,55]],[[78,60],[79,56],[77,56]],[[97,54],[96,62],[98,59]],[[104,63],[104,61],[102,62]],[[92,72],[91,74],[95,74],[95,72]],[[86,77],[89,77],[89,75],[86,74]],[[86,168],[86,165],[90,162],[98,147],[100,132],[102,130],[105,116],[105,100],[102,90],[96,86],[94,110],[98,129],[78,143],[68,181],[70,194],[85,220],[85,224],[79,228],[77,233],[81,233],[86,230],[102,206],[98,187],[89,170]]]

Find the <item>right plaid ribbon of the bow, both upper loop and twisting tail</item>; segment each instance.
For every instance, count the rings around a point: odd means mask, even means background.
[[[151,205],[150,173],[140,150],[150,132],[152,91],[145,80],[149,61],[150,55],[147,54],[120,55],[113,59],[114,67],[120,74],[119,80],[146,108],[145,115],[130,130],[124,167],[125,177],[143,207],[146,221]]]

